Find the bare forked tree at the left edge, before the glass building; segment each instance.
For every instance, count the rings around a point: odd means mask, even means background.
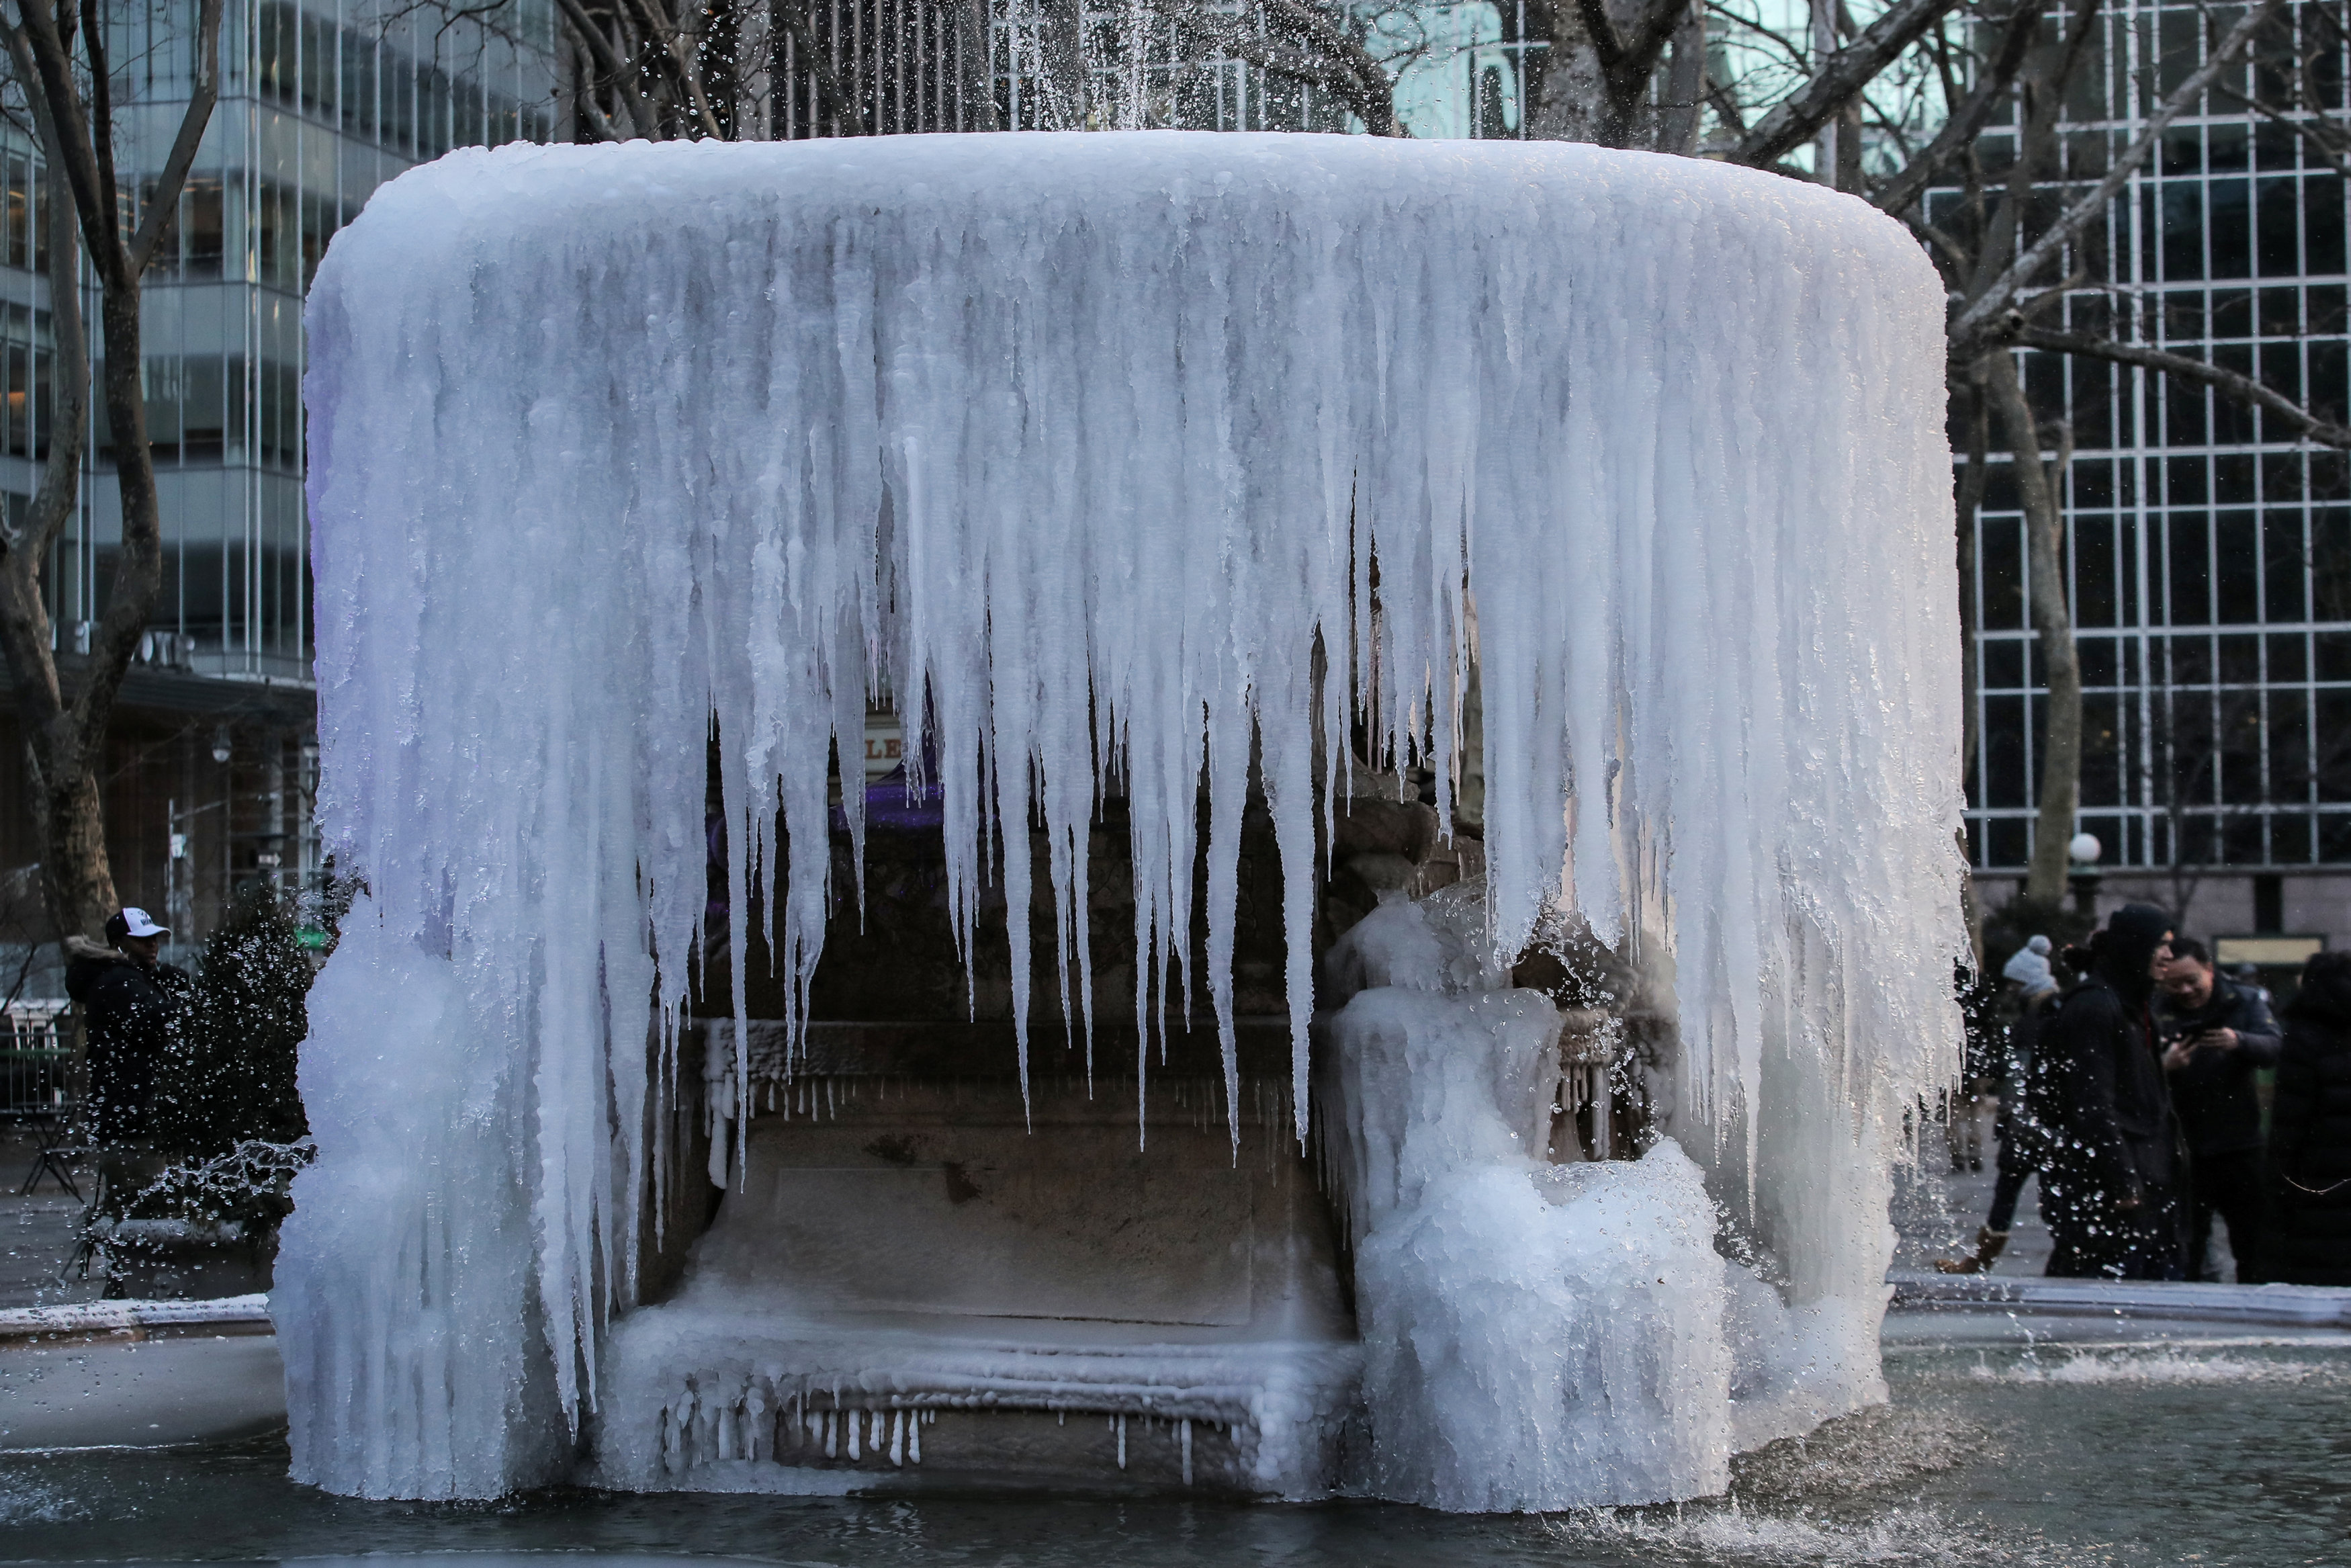
[[[219,94],[221,0],[197,5],[188,108],[146,195],[139,226],[129,233],[122,221],[129,193],[115,165],[120,136],[115,71],[106,59],[101,7],[96,0],[82,0],[75,19],[71,12],[52,9],[49,0],[16,0],[16,16],[0,16],[0,33],[47,162],[49,308],[59,364],[40,491],[21,527],[0,529],[0,646],[7,651],[16,715],[33,764],[49,919],[59,936],[96,936],[115,907],[99,790],[106,731],[122,677],[162,592],[162,515],[146,435],[139,301],[148,266],[179,212],[179,193],[195,165],[205,125],[212,120]],[[122,548],[115,555],[106,614],[92,635],[89,658],[68,684],[56,665],[42,571],[80,494],[89,397],[87,339],[78,308],[85,254],[99,287],[106,348],[103,407],[122,494]]]

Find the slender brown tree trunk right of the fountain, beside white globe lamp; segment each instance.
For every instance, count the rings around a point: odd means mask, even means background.
[[[2024,559],[2031,571],[2031,621],[2041,642],[2043,698],[2041,811],[2034,823],[2034,858],[2024,896],[2036,903],[2064,898],[2067,844],[2081,809],[2081,656],[2074,649],[2074,616],[2064,602],[2064,522],[2057,487],[2041,463],[2041,428],[2017,362],[2008,353],[1984,355],[1984,386],[2008,433],[2008,451],[2024,501]]]

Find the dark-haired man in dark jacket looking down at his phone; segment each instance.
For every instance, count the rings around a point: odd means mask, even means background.
[[[2172,1110],[2189,1145],[2189,1279],[2205,1274],[2212,1215],[2229,1222],[2236,1284],[2262,1281],[2262,1100],[2255,1074],[2278,1065],[2278,1025],[2259,990],[2212,971],[2203,943],[2172,940],[2158,1023]]]

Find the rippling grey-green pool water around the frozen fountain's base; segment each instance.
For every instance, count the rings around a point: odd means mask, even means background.
[[[1991,1324],[1998,1328],[1998,1324]],[[2022,1342],[2020,1342],[2022,1340]],[[722,1497],[545,1490],[350,1502],[282,1439],[0,1458],[0,1559],[600,1554],[1023,1568],[1615,1563],[2351,1563],[2351,1338],[2069,1324],[1890,1335],[1893,1403],[1775,1443],[1723,1500],[1448,1516],[1171,1495]],[[639,1559],[625,1563],[621,1559]],[[379,1559],[381,1561],[381,1559]],[[543,1559],[541,1559],[543,1561]]]

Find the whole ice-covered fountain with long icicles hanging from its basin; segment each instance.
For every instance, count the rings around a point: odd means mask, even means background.
[[[1940,315],[1860,202],[1582,146],[381,190],[310,303],[320,816],[367,891],[270,1302],[294,1474],[792,1490],[1077,1427],[1531,1509],[1881,1399],[1888,1168],[1958,1030]],[[811,1023],[884,689],[955,940],[1041,912],[973,980],[999,1032]],[[1444,820],[1465,733],[1483,879],[1317,985],[1354,752]],[[1509,961],[1561,931],[1667,1020],[1639,1159],[1559,1143]]]

